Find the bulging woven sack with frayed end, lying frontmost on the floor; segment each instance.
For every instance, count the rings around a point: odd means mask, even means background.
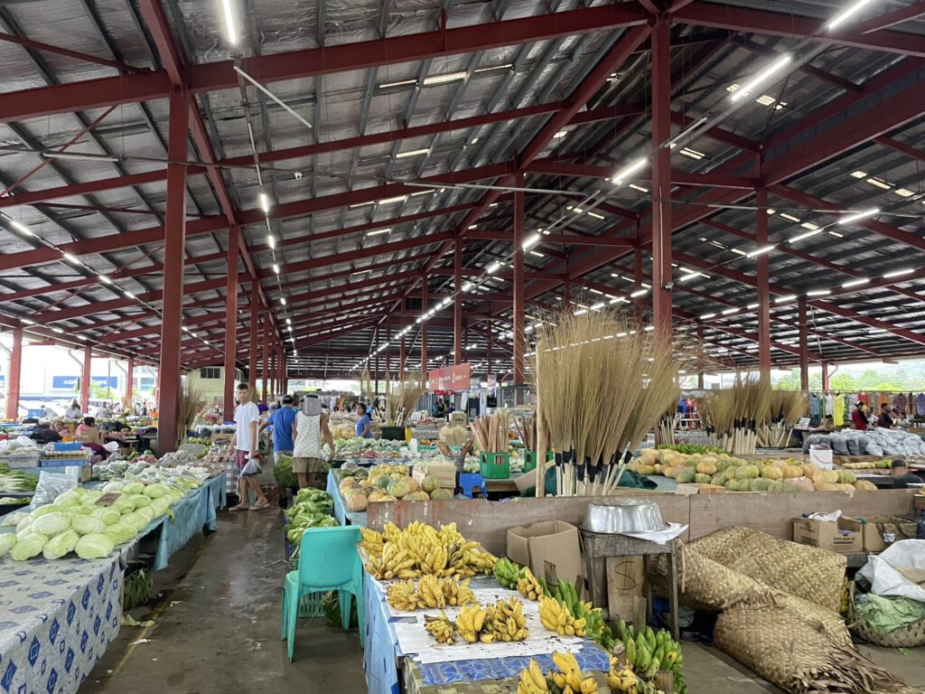
[[[722,651],[793,694],[913,691],[853,649],[845,626],[847,644],[834,641],[817,616],[783,602],[742,604],[720,615],[713,638]]]

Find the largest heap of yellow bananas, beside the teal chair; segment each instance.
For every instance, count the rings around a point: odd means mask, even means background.
[[[367,527],[360,532],[366,570],[379,579],[490,574],[498,561],[487,551],[476,551],[478,542],[463,538],[455,523],[439,530],[417,521],[403,530],[387,523],[381,533]]]

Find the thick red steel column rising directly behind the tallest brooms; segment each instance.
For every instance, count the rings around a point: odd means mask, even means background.
[[[672,45],[670,21],[660,16],[652,31],[652,325],[662,340],[672,336]]]

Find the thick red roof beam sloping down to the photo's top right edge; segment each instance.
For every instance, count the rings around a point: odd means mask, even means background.
[[[857,29],[828,31],[824,30],[825,19],[799,17],[790,13],[783,14],[748,7],[696,2],[672,13],[672,17],[683,24],[701,27],[800,39],[811,36],[813,41],[820,43],[867,48],[904,56],[925,56],[925,38],[917,34],[903,31],[878,31],[876,36],[869,36]]]

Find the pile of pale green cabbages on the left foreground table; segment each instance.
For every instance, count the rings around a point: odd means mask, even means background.
[[[106,492],[118,492],[116,501],[96,505]],[[172,516],[170,506],[185,493],[176,486],[141,481],[112,481],[102,490],[65,491],[54,503],[31,513],[7,514],[0,526],[15,525],[16,532],[0,534],[0,556],[8,552],[10,558],[22,562],[39,554],[59,559],[73,551],[80,559],[101,559],[117,545],[135,539],[155,518]]]

